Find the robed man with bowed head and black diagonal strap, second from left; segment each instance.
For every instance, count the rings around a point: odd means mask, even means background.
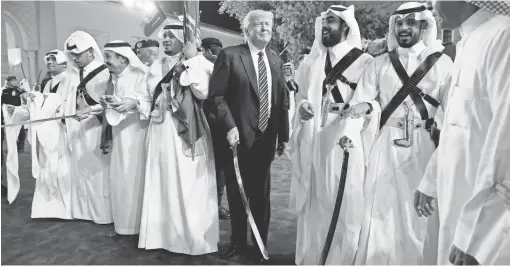
[[[71,149],[73,218],[109,224],[113,222],[108,179],[110,154],[103,154],[100,149],[103,116],[99,99],[106,93],[110,74],[90,34],[72,33],[64,49],[68,59],[64,113],[76,114],[78,118],[65,120]]]

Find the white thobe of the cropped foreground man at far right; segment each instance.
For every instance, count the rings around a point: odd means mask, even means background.
[[[510,180],[510,18],[481,9],[460,32],[441,141],[419,190],[439,202],[438,264],[452,244],[480,264],[510,264],[510,210],[494,189]]]

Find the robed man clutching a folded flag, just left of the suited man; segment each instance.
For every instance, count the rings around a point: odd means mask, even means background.
[[[140,92],[140,113],[151,120],[138,247],[201,255],[218,251],[219,242],[212,140],[195,105],[207,98],[213,64],[183,35],[182,24],[162,28],[167,56],[151,65]]]

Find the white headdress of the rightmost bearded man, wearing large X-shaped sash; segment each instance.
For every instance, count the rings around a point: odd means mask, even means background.
[[[395,20],[396,18],[405,18],[411,14],[415,14],[416,20],[425,20],[427,22],[427,29],[422,37],[426,46],[431,46],[437,42],[437,25],[434,16],[430,10],[427,10],[425,5],[417,2],[409,2],[401,5],[395,13],[390,17],[390,30],[388,33],[388,51],[393,51],[399,47],[397,36],[395,35]]]

